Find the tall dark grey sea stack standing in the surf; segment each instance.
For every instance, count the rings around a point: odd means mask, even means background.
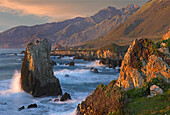
[[[34,97],[62,95],[50,53],[47,39],[27,45],[21,68],[21,87]]]

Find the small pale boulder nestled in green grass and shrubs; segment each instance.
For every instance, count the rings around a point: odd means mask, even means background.
[[[163,90],[157,85],[152,85],[150,87],[150,94],[151,94],[151,96],[155,96],[155,95],[158,95],[158,94],[163,94]]]

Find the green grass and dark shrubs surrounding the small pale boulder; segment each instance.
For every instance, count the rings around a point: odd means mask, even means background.
[[[164,94],[152,98],[146,97],[150,94],[151,85],[158,85],[164,90]],[[128,104],[124,108],[127,115],[149,115],[170,113],[170,85],[162,78],[153,78],[145,83],[141,88],[132,89],[125,93],[128,96]]]

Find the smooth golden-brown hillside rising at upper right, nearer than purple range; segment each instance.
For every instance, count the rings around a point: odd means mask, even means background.
[[[136,38],[146,37],[158,40],[170,28],[170,1],[150,0],[131,15],[124,23],[117,25],[104,37],[88,41],[84,47],[101,47],[108,43],[127,45]]]

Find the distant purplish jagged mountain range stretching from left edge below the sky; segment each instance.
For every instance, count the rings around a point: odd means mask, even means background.
[[[86,18],[77,17],[57,23],[14,27],[0,33],[0,48],[23,48],[29,42],[43,38],[47,38],[52,47],[58,43],[79,45],[106,35],[138,9],[139,6],[134,4],[122,9],[109,6]]]

